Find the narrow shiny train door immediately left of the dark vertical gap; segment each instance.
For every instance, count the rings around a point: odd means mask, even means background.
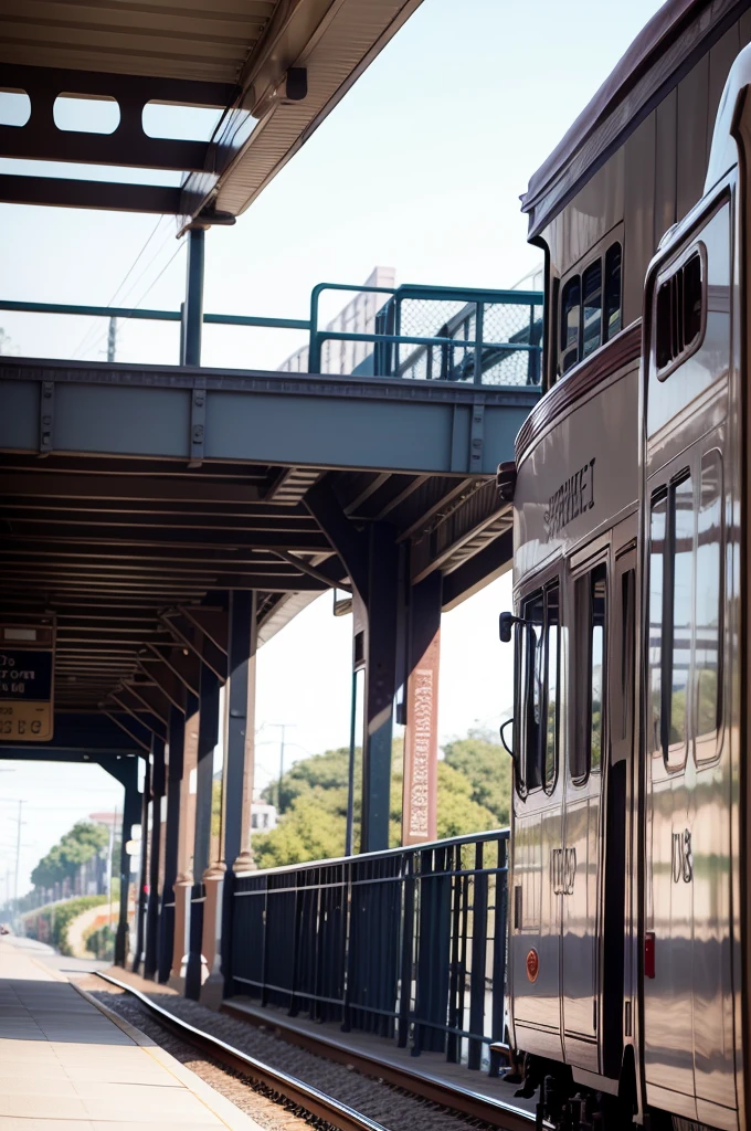
[[[593,1072],[599,1070],[597,933],[610,601],[607,539],[599,546],[594,555],[584,552],[588,560],[575,564],[570,578],[571,710],[559,879],[566,1059]]]

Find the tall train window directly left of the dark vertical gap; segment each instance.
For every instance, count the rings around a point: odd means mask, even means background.
[[[593,585],[595,575],[604,571],[605,606],[602,632],[602,663],[599,671],[599,760],[593,766]],[[611,595],[611,569],[607,552],[598,553],[589,559],[584,569],[573,577],[573,655],[576,663],[571,665],[571,701],[576,705],[575,734],[568,750],[568,777],[571,785],[582,789],[593,775],[603,771],[604,754],[607,749],[607,680],[608,680],[608,616]],[[584,595],[584,599],[582,599]],[[605,706],[603,706],[605,705]],[[576,759],[576,760],[575,760]]]

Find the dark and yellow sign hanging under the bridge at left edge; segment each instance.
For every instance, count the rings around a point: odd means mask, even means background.
[[[0,740],[52,739],[54,629],[52,616],[0,621]]]

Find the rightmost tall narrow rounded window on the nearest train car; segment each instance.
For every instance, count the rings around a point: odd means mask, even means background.
[[[696,596],[696,736],[719,729],[722,717],[722,526],[723,460],[717,450],[701,460],[701,495],[697,541]],[[715,748],[709,758],[715,756]],[[697,750],[697,757],[699,751]],[[700,759],[702,760],[702,759]]]

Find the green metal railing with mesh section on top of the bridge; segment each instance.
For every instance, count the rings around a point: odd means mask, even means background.
[[[374,333],[319,326],[319,302],[326,291],[388,295],[374,314]],[[10,300],[0,300],[0,310],[123,321],[181,322],[183,319],[180,310]],[[212,313],[205,313],[202,320],[215,326],[307,330],[309,373],[333,372],[323,357],[327,343],[364,343],[372,345],[372,351],[361,351],[364,356],[357,365],[352,365],[355,375],[536,386],[541,373],[542,311],[543,295],[536,291],[319,283],[312,291],[310,319],[307,320]]]

